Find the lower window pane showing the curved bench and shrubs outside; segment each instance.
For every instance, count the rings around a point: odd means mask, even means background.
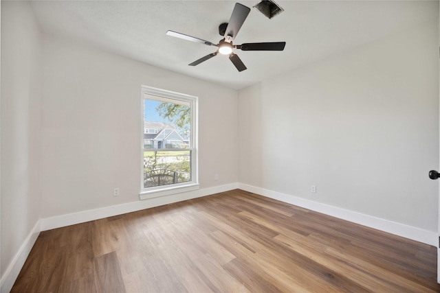
[[[144,150],[144,188],[191,180],[190,150]]]

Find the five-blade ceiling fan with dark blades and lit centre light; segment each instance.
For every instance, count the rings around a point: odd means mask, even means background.
[[[229,59],[232,61],[234,66],[238,71],[243,71],[246,69],[245,65],[237,56],[234,54],[232,49],[241,49],[241,51],[283,51],[286,45],[286,42],[272,42],[272,43],[245,43],[241,45],[232,45],[232,40],[238,34],[241,26],[243,25],[246,17],[250,12],[250,8],[242,5],[240,3],[235,3],[234,10],[232,10],[232,15],[228,23],[222,23],[219,25],[219,34],[223,36],[223,39],[219,41],[218,44],[211,43],[208,40],[202,40],[201,38],[195,38],[194,36],[188,36],[186,34],[181,34],[179,32],[173,32],[168,30],[166,34],[168,36],[174,36],[176,38],[183,38],[184,40],[190,40],[191,42],[201,43],[208,46],[219,47],[217,51],[214,53],[208,54],[199,60],[195,60],[190,63],[190,66],[199,65],[201,62],[204,62],[217,54],[229,55]]]

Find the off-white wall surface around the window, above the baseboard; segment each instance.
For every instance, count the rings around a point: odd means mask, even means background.
[[[52,36],[43,54],[41,218],[139,201],[142,84],[199,97],[200,187],[237,183],[237,91]]]

